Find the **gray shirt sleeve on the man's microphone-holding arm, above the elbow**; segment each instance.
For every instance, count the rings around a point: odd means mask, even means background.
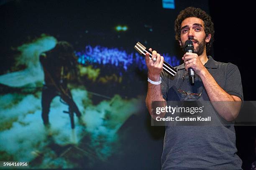
[[[236,65],[228,63],[224,90],[230,94],[240,97],[243,101],[243,87],[241,75]]]

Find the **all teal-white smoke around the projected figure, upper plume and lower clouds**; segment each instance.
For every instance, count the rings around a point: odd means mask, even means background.
[[[43,82],[43,70],[39,54],[56,44],[54,37],[42,37],[18,47],[21,55],[17,65],[26,65],[25,70],[0,75],[0,83],[11,87],[22,87]],[[41,118],[41,92],[34,94],[8,93],[0,95],[0,160],[33,161],[43,155],[40,165],[32,168],[72,168],[74,165],[57,155],[49,145],[79,145],[85,135],[90,135],[89,145],[100,160],[106,160],[113,152],[113,143],[118,140],[116,132],[125,120],[138,112],[138,100],[123,100],[115,95],[98,105],[92,101],[84,88],[71,90],[82,120],[75,116],[75,129],[71,129],[70,118],[63,110],[68,106],[55,97],[51,102],[50,128],[45,128]]]

